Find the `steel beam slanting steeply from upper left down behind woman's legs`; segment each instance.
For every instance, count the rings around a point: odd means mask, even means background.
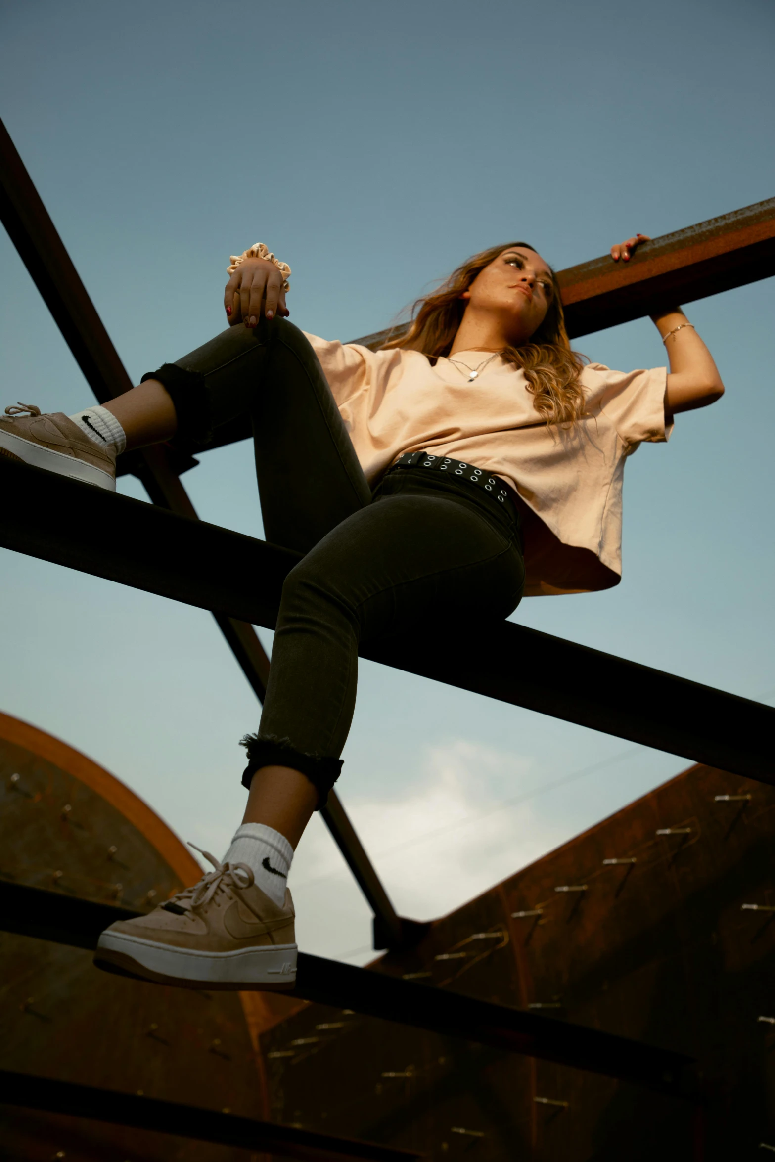
[[[100,403],[128,392],[132,383],[127,370],[2,121],[0,218]],[[181,461],[167,445],[134,453],[134,471],[153,504],[196,521],[196,510],[178,475],[194,464],[196,460],[189,458]],[[213,616],[253,693],[264,702],[270,660],[256,630],[228,614],[214,611]],[[321,813],[374,912],[374,947],[397,948],[411,942],[418,931],[416,921],[396,913],[333,791]]]

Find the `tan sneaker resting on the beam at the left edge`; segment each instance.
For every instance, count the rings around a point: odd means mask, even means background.
[[[115,447],[99,447],[64,411],[42,416],[34,403],[6,408],[0,416],[0,456],[116,490]]]

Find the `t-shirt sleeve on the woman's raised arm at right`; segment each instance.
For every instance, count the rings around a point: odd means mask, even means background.
[[[669,438],[673,424],[665,416],[667,367],[622,372],[589,364],[584,368],[587,378],[602,411],[625,444],[637,446],[643,440]]]

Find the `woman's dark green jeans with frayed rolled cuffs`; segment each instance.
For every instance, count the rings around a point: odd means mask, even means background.
[[[315,352],[285,320],[232,327],[144,378],[170,392],[189,450],[252,422],[266,538],[304,557],[282,588],[243,782],[293,767],[322,805],[352,722],[359,644],[431,621],[453,640],[461,623],[507,617],[524,584],[517,511],[422,468],[394,468],[372,493]]]

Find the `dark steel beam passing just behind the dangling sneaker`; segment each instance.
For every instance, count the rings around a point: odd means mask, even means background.
[[[108,924],[138,914],[0,881],[0,931],[94,948]],[[321,956],[299,954],[290,995],[676,1096],[698,1096],[693,1061],[683,1054]]]

